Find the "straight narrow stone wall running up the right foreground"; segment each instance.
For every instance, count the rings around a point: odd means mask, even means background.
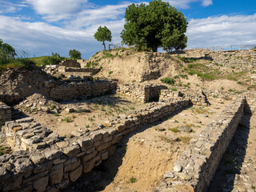
[[[156,191],[206,191],[242,118],[246,100],[231,102],[174,162]]]

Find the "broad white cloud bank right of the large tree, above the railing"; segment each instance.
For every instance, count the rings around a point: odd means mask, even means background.
[[[256,14],[223,15],[191,19],[187,36],[190,48],[256,44]]]

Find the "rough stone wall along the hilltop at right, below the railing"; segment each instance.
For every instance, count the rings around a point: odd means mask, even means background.
[[[210,59],[226,67],[234,67],[241,71],[256,69],[256,50],[212,51],[204,49],[185,50],[180,56],[186,58]]]

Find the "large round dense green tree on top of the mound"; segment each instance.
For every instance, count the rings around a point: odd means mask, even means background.
[[[150,48],[154,52],[180,50],[186,47],[187,22],[184,15],[169,2],[154,0],[148,6],[132,4],[126,8],[126,24],[122,30],[122,42],[138,49]]]

